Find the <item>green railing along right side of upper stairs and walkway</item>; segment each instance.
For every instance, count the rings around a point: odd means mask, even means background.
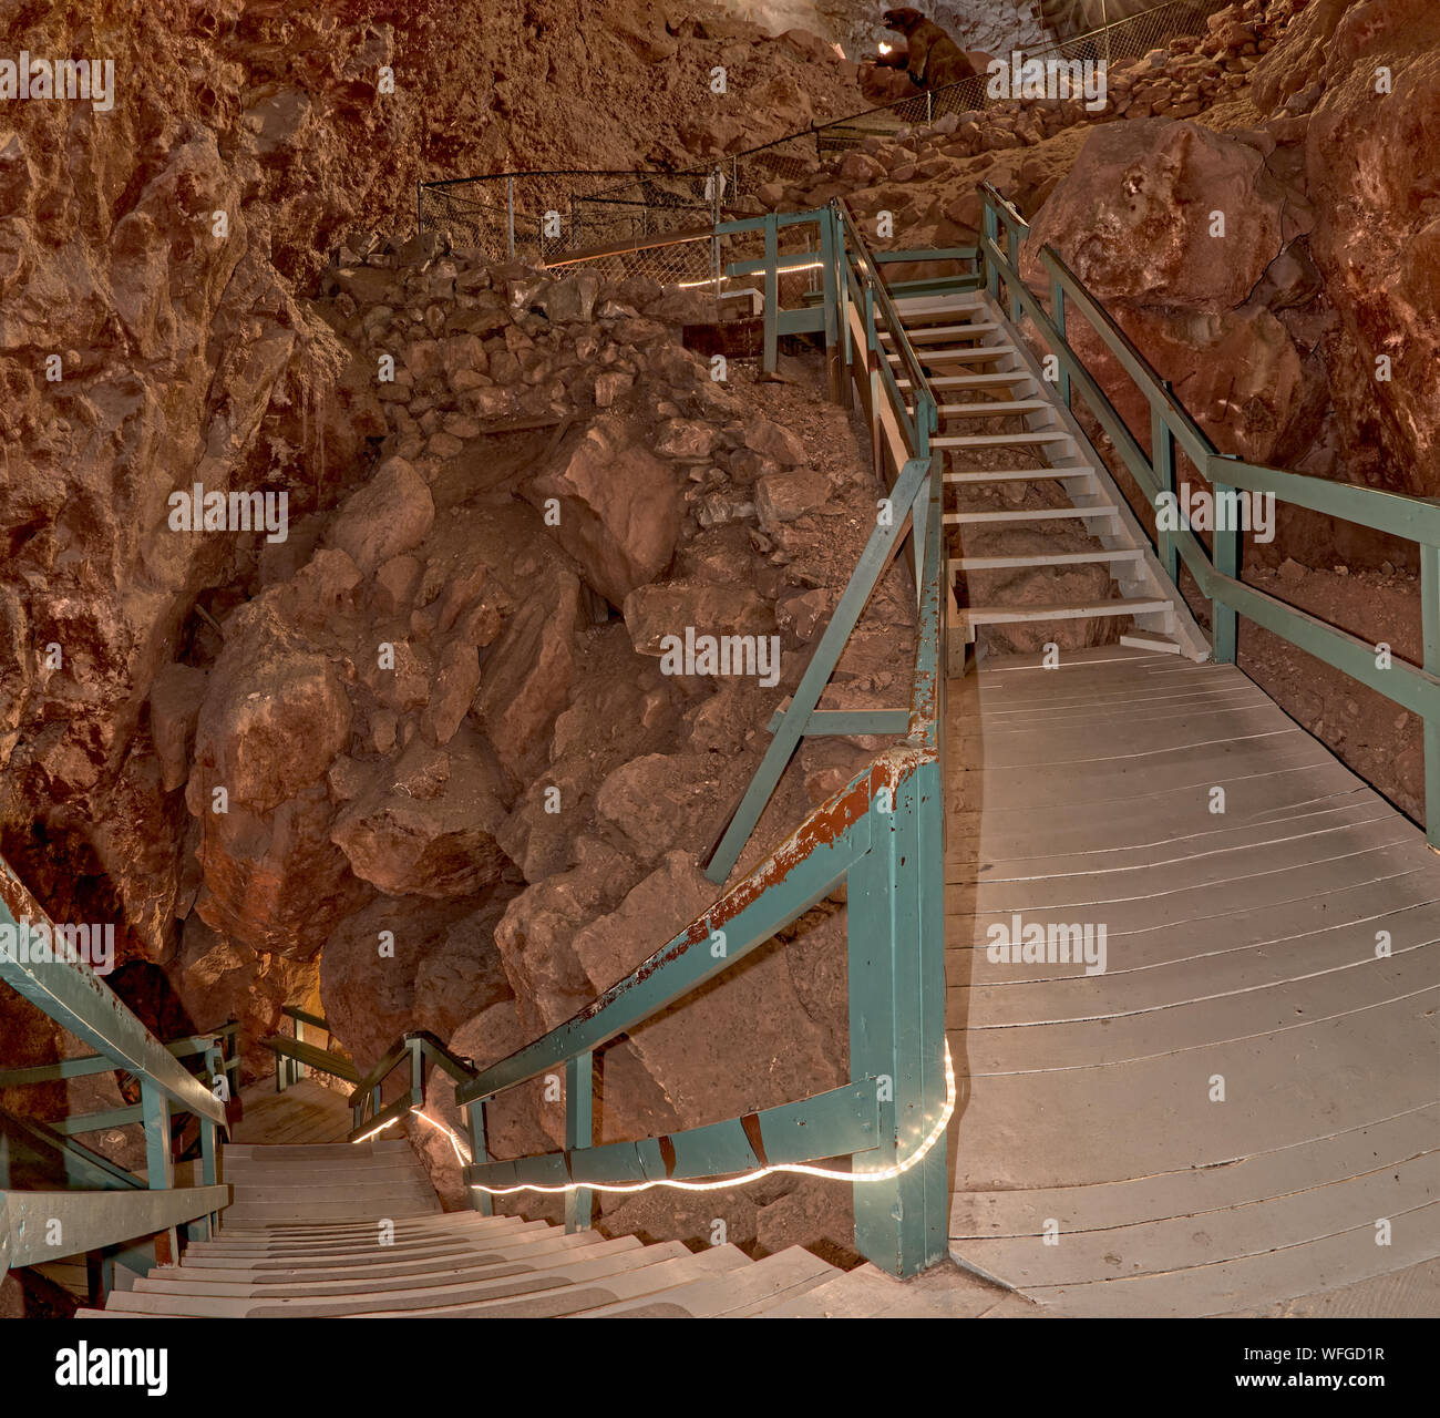
[[[1217,452],[1171,386],[1135,347],[1115,317],[1086,289],[1060,252],[1047,245],[1035,253],[1050,279],[1047,301],[1025,284],[1020,274],[1020,246],[1030,235],[1028,223],[989,184],[981,189],[981,196],[985,203],[981,248],[988,289],[996,298],[1004,289],[1012,322],[1018,324],[1022,318],[1032,322],[1057,358],[1061,397],[1073,405],[1074,396],[1080,394],[1152,511],[1162,494],[1175,495],[1178,451],[1210,484],[1217,508],[1234,508],[1237,492],[1260,494],[1417,544],[1423,665],[1407,664],[1395,658],[1388,646],[1364,641],[1247,584],[1241,577],[1243,528],[1238,517],[1225,518],[1225,525],[1211,531],[1208,548],[1189,527],[1184,510],[1179,530],[1159,528],[1156,536],[1161,563],[1176,589],[1184,563],[1200,593],[1211,603],[1212,654],[1217,661],[1236,661],[1238,618],[1243,616],[1420,717],[1424,724],[1426,838],[1431,846],[1440,848],[1440,502],[1269,468]],[[1001,229],[1005,233],[1004,243]],[[1086,320],[1143,394],[1149,410],[1149,451],[1130,432],[1096,374],[1070,344],[1066,327],[1071,312]],[[1215,521],[1221,518],[1217,517]]]

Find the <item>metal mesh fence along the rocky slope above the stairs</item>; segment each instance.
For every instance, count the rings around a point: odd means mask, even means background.
[[[1139,58],[1179,35],[1202,33],[1210,9],[1205,0],[1168,0],[1074,39],[1027,50],[1025,58],[1107,65]],[[973,75],[680,173],[497,173],[422,183],[419,229],[444,232],[455,246],[478,248],[492,261],[516,258],[543,266],[585,256],[586,265],[621,276],[654,275],[674,285],[713,281],[717,271],[708,236],[660,242],[708,232],[724,217],[757,216],[766,210],[757,197],[760,187],[809,177],[818,163],[868,138],[893,140],[948,114],[984,112],[1004,101],[989,89],[988,75]]]

